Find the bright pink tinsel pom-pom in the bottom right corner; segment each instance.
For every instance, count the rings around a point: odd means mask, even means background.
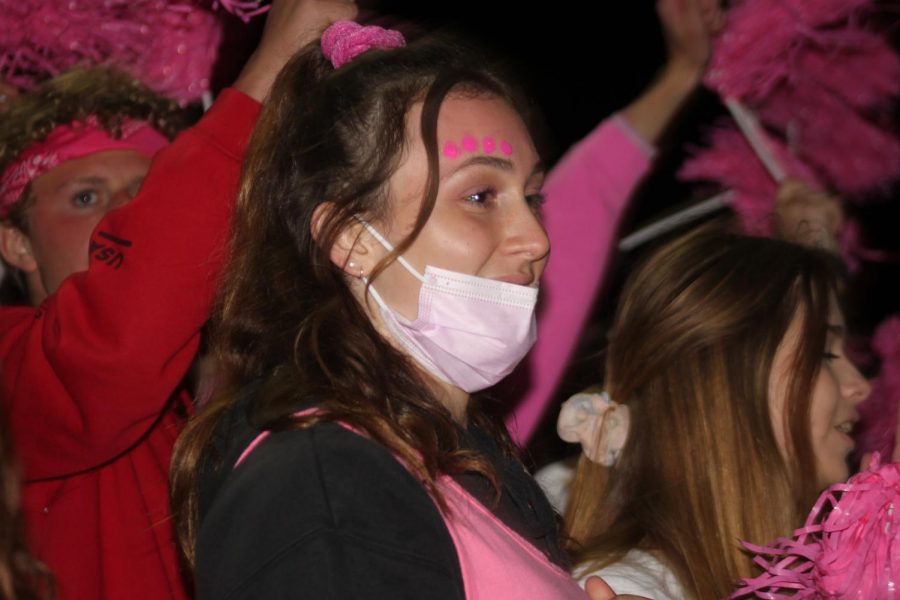
[[[888,599],[900,591],[900,464],[879,464],[831,486],[794,538],[744,546],[762,575],[742,581],[731,598]],[[830,510],[829,510],[830,507]]]

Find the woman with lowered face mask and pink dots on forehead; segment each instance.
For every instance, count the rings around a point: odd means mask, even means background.
[[[199,598],[583,597],[472,398],[534,341],[528,105],[459,43],[399,46],[329,28],[254,134],[215,346],[230,393],[174,459]]]

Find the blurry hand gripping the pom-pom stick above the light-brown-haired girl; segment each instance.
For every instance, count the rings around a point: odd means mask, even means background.
[[[837,251],[844,225],[840,201],[799,179],[786,179],[775,200],[775,231],[789,242]]]

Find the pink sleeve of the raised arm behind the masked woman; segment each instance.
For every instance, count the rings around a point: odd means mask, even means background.
[[[576,144],[550,173],[544,225],[550,263],[541,281],[538,342],[526,358],[527,386],[507,426],[524,445],[568,363],[603,281],[619,219],[648,171],[654,149],[618,115]],[[598,365],[597,379],[600,379]]]

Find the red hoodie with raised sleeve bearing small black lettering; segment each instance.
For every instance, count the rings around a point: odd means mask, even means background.
[[[3,404],[32,550],[59,600],[186,598],[168,470],[259,104],[226,90],[91,238],[87,271],[0,309]]]

